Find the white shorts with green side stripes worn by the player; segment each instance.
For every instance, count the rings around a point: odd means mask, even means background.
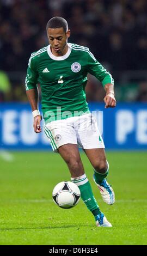
[[[96,119],[91,113],[52,121],[44,125],[44,131],[55,152],[69,143],[77,144],[82,149],[105,148]]]

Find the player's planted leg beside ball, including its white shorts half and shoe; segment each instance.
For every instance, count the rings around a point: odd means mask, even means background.
[[[105,217],[101,213],[87,176],[84,173],[83,164],[77,148],[76,132],[73,127],[73,123],[70,124],[70,118],[53,121],[44,125],[44,131],[50,141],[53,151],[58,151],[68,164],[71,172],[71,180],[79,187],[79,190],[81,191],[81,198],[87,205],[87,208],[94,216],[101,216],[101,222],[96,222],[96,224],[111,227],[111,224],[105,220]],[[95,220],[97,221],[96,218]]]

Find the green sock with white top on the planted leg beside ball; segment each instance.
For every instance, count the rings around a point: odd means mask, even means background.
[[[83,174],[82,176],[79,176],[77,178],[71,178],[71,181],[78,186],[81,192],[81,198],[87,206],[88,210],[91,211],[94,216],[100,214],[101,211],[99,209],[99,205],[97,204],[96,199],[93,195],[93,191],[91,189],[91,185],[87,179],[87,176]]]

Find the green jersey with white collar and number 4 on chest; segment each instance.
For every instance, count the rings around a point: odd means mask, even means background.
[[[89,48],[68,44],[68,52],[56,57],[50,45],[31,54],[26,90],[41,86],[41,105],[45,121],[89,113],[85,96],[88,72],[103,86],[113,84],[109,72],[95,59]]]

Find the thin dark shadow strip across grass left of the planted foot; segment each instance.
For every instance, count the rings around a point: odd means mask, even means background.
[[[60,228],[76,228],[76,230],[80,229],[81,227],[87,227],[87,228],[93,228],[93,225],[62,225],[62,226],[56,226],[56,227],[35,227],[35,228],[0,228],[0,231],[11,231],[11,230],[16,230],[16,231],[21,231],[21,230],[41,230],[41,229],[60,229]]]

